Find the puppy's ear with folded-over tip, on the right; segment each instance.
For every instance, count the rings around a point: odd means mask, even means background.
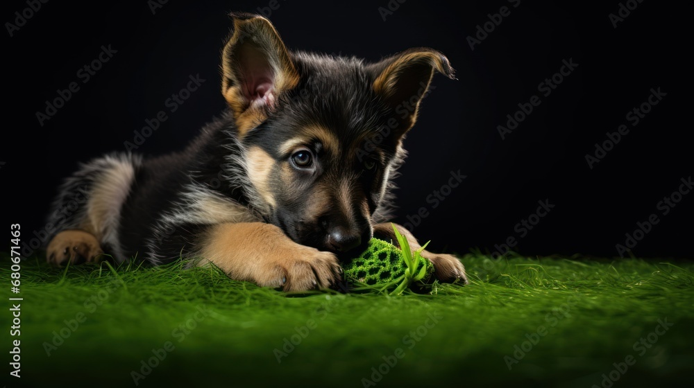
[[[431,48],[410,48],[403,53],[366,66],[373,77],[373,91],[391,108],[398,121],[396,136],[403,136],[417,118],[417,110],[429,89],[434,70],[455,80],[455,70],[439,51]]]

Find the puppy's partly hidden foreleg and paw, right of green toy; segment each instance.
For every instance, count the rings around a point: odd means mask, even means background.
[[[421,248],[421,245],[417,242],[417,239],[412,236],[412,233],[403,227],[402,225],[394,224],[400,234],[407,238],[407,243],[409,243],[409,248],[412,251],[416,251]],[[384,222],[382,224],[375,224],[373,226],[373,235],[376,238],[382,238],[383,240],[391,240],[393,244],[398,244],[398,239],[395,236],[393,227],[389,222]],[[436,276],[439,281],[443,283],[451,283],[453,281],[460,281],[463,284],[468,283],[468,278],[465,275],[465,267],[460,262],[460,260],[450,254],[434,254],[427,250],[422,251],[421,255],[427,258],[434,265],[434,276]]]

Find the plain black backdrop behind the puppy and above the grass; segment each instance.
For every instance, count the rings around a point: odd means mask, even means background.
[[[26,233],[44,227],[62,177],[78,162],[124,150],[133,130],[166,109],[164,101],[199,73],[206,80],[201,89],[138,152],[183,148],[225,109],[219,51],[231,25],[226,12],[258,12],[269,3],[169,1],[153,15],[146,1],[49,1],[14,36],[4,30],[3,224],[19,222]],[[430,46],[450,59],[458,80],[434,78],[435,89],[405,142],[409,157],[397,180],[396,220],[407,222],[425,206],[430,215],[414,233],[432,240],[434,249],[493,252],[508,236],[518,237],[514,225],[534,213],[538,200],[548,199],[555,208],[519,240],[521,254],[616,256],[625,233],[658,213],[659,224],[634,255],[691,257],[694,194],[668,215],[656,209],[693,167],[684,10],[644,1],[613,28],[608,15],[618,11],[618,1],[587,6],[522,0],[512,8],[501,0],[455,6],[407,0],[385,21],[378,8],[387,0],[278,4],[269,18],[290,49],[374,61]],[[466,37],[502,6],[511,14],[471,50]],[[14,12],[27,5],[10,1],[2,7],[3,22],[14,22]],[[117,53],[82,84],[77,71],[109,44]],[[497,125],[518,103],[540,95],[539,83],[569,58],[578,64],[575,71],[502,140]],[[40,126],[36,112],[73,81],[81,89]],[[629,125],[627,112],[657,87],[667,96],[636,127]],[[629,134],[591,170],[584,155],[621,124]],[[457,170],[467,179],[433,209],[426,197]]]

